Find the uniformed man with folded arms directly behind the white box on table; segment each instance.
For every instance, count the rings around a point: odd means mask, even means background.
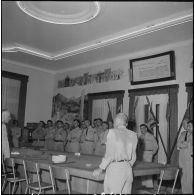
[[[64,123],[61,120],[56,122],[56,130],[54,135],[54,150],[64,152],[64,145],[66,143],[67,133],[64,130]]]

